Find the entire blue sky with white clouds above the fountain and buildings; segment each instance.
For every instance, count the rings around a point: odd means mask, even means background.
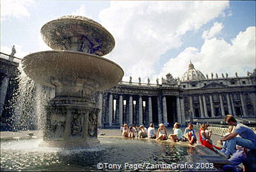
[[[181,77],[190,60],[208,75],[255,68],[255,1],[0,1],[1,52],[15,45],[18,58],[51,50],[40,35],[46,22],[82,15],[114,36],[105,58],[122,66],[123,81]]]

